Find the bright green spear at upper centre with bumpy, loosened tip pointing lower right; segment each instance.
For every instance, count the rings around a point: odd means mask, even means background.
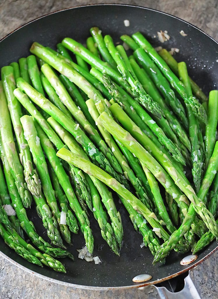
[[[124,80],[127,80],[130,84],[134,96],[139,99],[140,103],[148,110],[148,112],[161,118],[163,115],[162,109],[148,94],[146,94],[139,81],[136,80],[131,72],[126,68],[125,63],[113,44],[112,38],[109,35],[105,35],[104,40],[111,56],[116,61],[119,72],[122,74]]]

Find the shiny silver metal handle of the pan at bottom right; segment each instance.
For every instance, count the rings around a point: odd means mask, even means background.
[[[177,293],[172,293],[163,286],[157,287],[154,285],[154,287],[156,288],[161,299],[201,299],[193,281],[191,280],[190,274],[185,277],[184,288]]]

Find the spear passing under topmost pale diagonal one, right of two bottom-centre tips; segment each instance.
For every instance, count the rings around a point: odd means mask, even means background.
[[[65,144],[69,147],[72,152],[75,152],[77,155],[80,155],[88,160],[88,156],[82,150],[81,147],[76,143],[72,135],[69,134],[56,120],[53,118],[48,118],[48,122],[55,129],[55,131],[59,134]],[[113,202],[113,197],[108,188],[98,179],[91,176],[91,180],[99,191],[102,202],[105,205],[105,208],[108,211],[108,215],[110,216],[111,225],[116,237],[116,240],[121,248],[122,238],[123,238],[123,228],[120,213],[116,210],[116,206]]]

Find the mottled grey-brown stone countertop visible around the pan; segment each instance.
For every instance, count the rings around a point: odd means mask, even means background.
[[[20,25],[44,14],[73,6],[102,2],[96,0],[0,0],[0,39]],[[161,10],[190,22],[218,40],[217,0],[107,0],[105,3],[132,4]],[[190,275],[202,299],[217,298],[217,260],[218,251],[191,271]],[[29,274],[0,256],[0,299],[4,298],[154,299],[159,296],[153,286],[148,286],[143,290],[106,292],[69,288]]]

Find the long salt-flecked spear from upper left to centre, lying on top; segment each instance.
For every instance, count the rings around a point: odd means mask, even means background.
[[[85,135],[85,133],[80,129],[79,124],[73,122],[73,120],[69,119],[66,115],[64,115],[56,106],[54,106],[49,100],[39,94],[35,89],[32,88],[28,83],[26,83],[22,78],[17,80],[17,85],[25,91],[25,93],[36,103],[39,107],[44,109],[47,113],[49,113],[54,119],[59,121],[59,123],[67,129],[76,139],[79,144],[81,144],[87,154],[89,154],[90,158],[96,163],[100,164],[106,171],[111,173],[115,178],[124,182],[121,175],[116,173],[111,167],[109,161],[105,158],[102,152],[99,151],[97,147],[90,141],[90,139]],[[19,90],[20,91],[20,90]],[[19,91],[15,90],[15,96]],[[18,100],[19,97],[18,97]],[[125,183],[125,182],[124,182]]]

